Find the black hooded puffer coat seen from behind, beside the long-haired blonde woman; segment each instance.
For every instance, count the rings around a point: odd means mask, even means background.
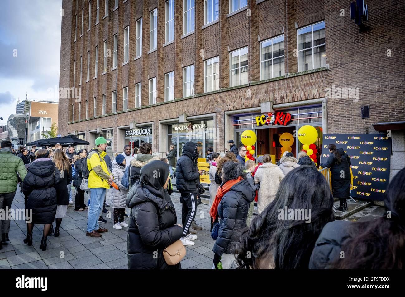
[[[26,208],[32,209],[32,223],[50,224],[55,221],[55,185],[60,182],[60,173],[50,159],[41,159],[32,162],[28,167],[23,182],[23,193],[28,196]]]

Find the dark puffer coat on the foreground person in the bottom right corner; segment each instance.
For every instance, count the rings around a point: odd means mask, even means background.
[[[351,239],[349,229],[352,226],[353,223],[349,221],[327,223],[315,242],[309,269],[333,269],[335,261],[344,261],[340,259],[342,246]]]

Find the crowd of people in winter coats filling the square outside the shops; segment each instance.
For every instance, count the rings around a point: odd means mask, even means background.
[[[215,240],[213,269],[403,268],[405,169],[387,189],[389,215],[373,222],[334,221],[333,198],[339,198],[339,210],[345,211],[350,197],[350,158],[343,149],[328,145],[330,156],[320,164],[331,171],[331,191],[305,152],[298,153],[298,159],[285,152],[278,162],[264,154],[256,163],[245,161],[245,146],[228,143],[230,150],[224,156],[211,147],[206,154],[210,231]],[[167,158],[154,156],[151,143],[142,143],[133,152],[126,145],[112,161],[106,147],[106,139],[98,137],[89,152],[76,152],[72,145],[64,151],[56,145],[32,152],[20,147],[14,153],[11,142],[3,141],[0,208],[11,206],[20,179],[26,209],[32,209],[24,242],[32,245],[34,224],[42,224],[40,249],[45,251],[47,236],[59,236],[73,202],[73,183],[75,211],[88,210],[87,236],[102,237],[108,232],[100,223],[106,221],[101,216],[105,206],[111,206],[113,228],[128,227],[129,269],[181,269],[180,262],[169,265],[163,253],[179,240],[183,246],[193,246],[196,230],[202,229],[194,221],[204,192],[197,144],[185,143],[178,160],[173,145]],[[180,192],[181,224],[171,200],[172,178]],[[309,217],[280,216],[284,209],[309,211]],[[0,249],[9,240],[9,229],[10,221],[0,219]],[[341,251],[345,251],[343,258]]]

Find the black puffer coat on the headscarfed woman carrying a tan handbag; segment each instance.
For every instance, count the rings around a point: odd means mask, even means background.
[[[183,236],[176,225],[176,210],[170,196],[156,197],[137,181],[128,192],[132,210],[128,224],[128,269],[181,269],[167,265],[163,250]],[[157,258],[154,255],[157,253]]]

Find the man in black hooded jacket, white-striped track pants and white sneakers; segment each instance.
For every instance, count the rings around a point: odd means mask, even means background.
[[[183,237],[181,242],[186,246],[194,245],[196,235],[190,233],[192,221],[197,211],[198,184],[202,171],[197,168],[197,144],[188,141],[183,146],[183,153],[176,166],[176,187],[180,192],[180,202],[183,204],[181,220],[183,222]]]

